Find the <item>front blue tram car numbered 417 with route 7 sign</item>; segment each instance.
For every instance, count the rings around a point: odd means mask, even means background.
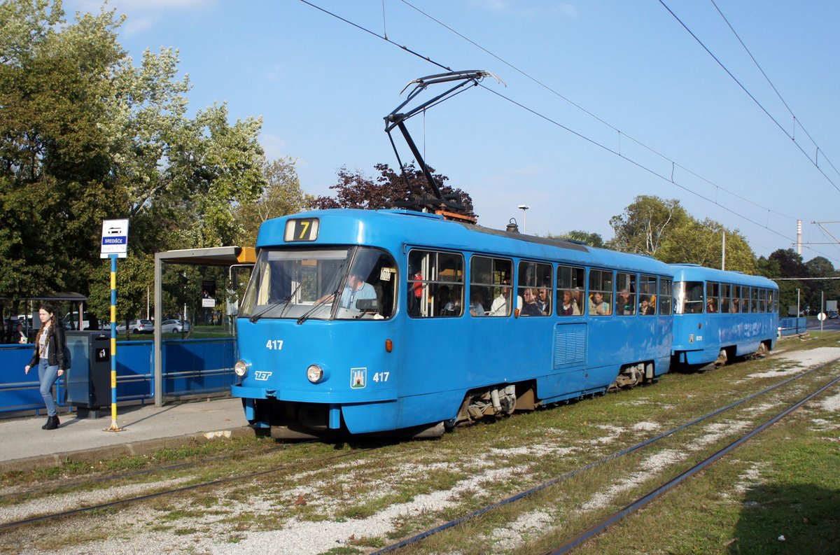
[[[406,210],[262,224],[237,319],[273,437],[433,437],[669,370],[674,269]]]

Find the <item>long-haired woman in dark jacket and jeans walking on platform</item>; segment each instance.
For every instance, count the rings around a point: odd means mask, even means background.
[[[44,304],[39,306],[38,317],[41,321],[41,329],[35,341],[35,352],[32,360],[26,365],[24,371],[29,374],[29,369],[38,364],[38,380],[41,384],[41,396],[47,407],[47,423],[41,428],[44,430],[55,430],[60,422],[55,411],[55,400],[52,396],[52,386],[61,374],[64,374],[66,361],[64,359],[65,337],[64,327],[55,322],[55,309],[52,305]]]

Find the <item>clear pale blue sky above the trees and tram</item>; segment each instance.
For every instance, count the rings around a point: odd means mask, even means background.
[[[487,77],[407,121],[481,225],[513,217],[526,233],[609,239],[610,218],[653,195],[737,230],[757,256],[794,248],[801,220],[803,259],[840,268],[840,3],[309,2],[322,9],[108,7],[127,16],[119,42],[135,64],[146,49],[179,50],[192,113],[227,102],[231,123],[262,118],[267,158],[296,160],[308,193],[330,194],[343,167],[373,177],[377,163],[396,166],[383,118],[409,81],[485,70],[502,82]],[[101,6],[64,3],[69,18]],[[406,109],[444,90],[429,86]]]

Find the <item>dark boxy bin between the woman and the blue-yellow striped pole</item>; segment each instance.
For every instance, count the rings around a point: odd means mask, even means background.
[[[111,332],[68,331],[71,369],[64,383],[65,404],[76,407],[80,418],[98,418],[98,409],[111,404]]]

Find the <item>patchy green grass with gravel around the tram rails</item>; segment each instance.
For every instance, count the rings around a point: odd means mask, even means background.
[[[838,347],[836,333],[811,334],[806,340],[785,340],[785,350]],[[190,468],[165,475],[187,475],[190,481],[276,469],[250,482],[226,484],[213,490],[182,492],[152,506],[160,518],[139,522],[143,533],[148,526],[162,532],[190,536],[211,532],[198,516],[214,516],[224,533],[221,542],[239,542],[249,531],[277,530],[296,521],[362,521],[396,504],[409,504],[423,495],[444,492],[444,505],[415,508],[402,513],[385,537],[358,537],[330,552],[369,552],[428,527],[464,516],[488,503],[502,500],[547,479],[578,469],[607,453],[614,453],[648,437],[727,405],[747,392],[779,382],[781,377],[748,378],[749,374],[780,368],[780,361],[759,359],[732,364],[705,374],[666,374],[659,384],[621,391],[592,400],[539,410],[492,424],[459,429],[439,440],[365,444],[359,442],[312,443],[267,452],[274,442],[266,438],[238,438],[186,448],[161,450],[149,458],[121,458],[102,462],[97,469],[84,465],[71,475],[108,473],[155,464],[186,461]],[[732,421],[752,423],[772,409],[764,405],[789,406],[801,396],[799,390],[814,389],[836,369],[819,370],[797,380],[793,387],[780,388],[739,407],[733,414],[703,424]],[[644,510],[617,523],[601,537],[580,547],[592,553],[800,553],[836,552],[840,545],[840,468],[837,437],[840,416],[818,403],[796,411],[794,416],[711,465],[701,477],[669,492]],[[766,417],[766,414],[764,414]],[[826,422],[820,426],[815,421]],[[644,427],[638,423],[644,422]],[[822,426],[822,427],[821,427]],[[827,431],[823,431],[823,428]],[[529,495],[510,505],[429,537],[407,552],[537,552],[556,547],[571,531],[591,525],[598,516],[635,500],[653,484],[690,467],[692,460],[709,454],[731,441],[720,437],[702,445],[692,457],[667,468],[652,468],[652,454],[673,450],[694,453],[703,431],[686,431],[661,442],[650,451],[632,453],[568,479],[549,489]],[[606,440],[605,440],[606,438]],[[215,447],[213,447],[215,446]],[[360,447],[371,447],[364,451]],[[209,449],[209,450],[207,450]],[[218,461],[225,454],[239,454]],[[347,458],[334,455],[349,453]],[[308,462],[307,462],[308,461]],[[291,465],[303,463],[302,467]],[[646,466],[647,465],[647,466]],[[50,474],[47,474],[47,473]],[[39,479],[61,478],[60,472],[44,471]],[[484,474],[482,474],[484,473]],[[484,479],[475,479],[483,477]],[[31,480],[27,476],[4,477],[11,482]],[[162,479],[161,475],[155,479]],[[473,480],[467,483],[465,480]],[[630,479],[596,509],[585,510],[597,492]],[[59,480],[60,481],[60,480]],[[94,487],[94,486],[86,486]],[[303,495],[306,505],[295,503]],[[105,513],[102,521],[125,519]],[[528,524],[536,516],[545,523]],[[86,519],[80,518],[85,522]],[[513,529],[513,522],[522,522]],[[783,526],[784,525],[784,526]],[[105,526],[104,524],[102,526]],[[146,526],[146,527],[144,527]],[[360,526],[363,526],[360,524]],[[71,528],[76,528],[74,522]],[[363,528],[362,528],[363,529]],[[99,532],[92,528],[90,537]],[[507,536],[517,542],[507,543]],[[778,537],[784,534],[785,542]],[[61,547],[79,542],[61,533]],[[0,540],[0,550],[8,547]],[[764,551],[763,551],[764,550]]]

